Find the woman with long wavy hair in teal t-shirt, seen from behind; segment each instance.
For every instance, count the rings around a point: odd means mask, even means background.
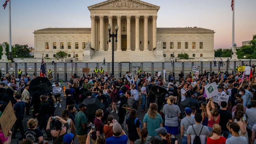
[[[148,130],[147,140],[151,140],[152,138],[159,138],[156,133],[156,129],[163,126],[163,119],[161,115],[157,111],[157,104],[152,103],[150,105],[148,112],[145,114],[143,118],[143,127]]]

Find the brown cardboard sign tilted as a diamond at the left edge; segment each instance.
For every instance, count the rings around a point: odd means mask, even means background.
[[[14,114],[13,107],[11,106],[11,102],[9,102],[8,105],[6,106],[6,109],[4,109],[4,113],[0,118],[0,124],[2,126],[2,130],[5,138],[8,136],[9,129],[13,127],[16,120],[17,118]]]

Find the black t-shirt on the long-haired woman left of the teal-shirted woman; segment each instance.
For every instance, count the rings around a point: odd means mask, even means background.
[[[139,119],[136,120],[136,124],[134,124],[134,118],[127,118],[126,124],[128,126],[128,137],[130,140],[135,141],[139,139],[139,135],[137,133],[137,129],[139,128]]]

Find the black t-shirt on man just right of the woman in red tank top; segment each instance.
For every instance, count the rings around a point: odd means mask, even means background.
[[[232,120],[232,114],[226,110],[219,109],[219,116],[219,125],[221,126],[221,130],[228,131],[226,124],[228,123],[228,120]]]

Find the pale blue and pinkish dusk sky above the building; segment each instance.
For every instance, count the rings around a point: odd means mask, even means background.
[[[34,46],[42,28],[90,28],[87,6],[104,0],[11,0],[12,44]],[[232,46],[231,0],[144,0],[160,6],[157,27],[201,27],[215,31],[214,48]],[[0,0],[0,43],[9,41],[9,4]],[[256,0],[235,1],[235,42],[256,34]]]

